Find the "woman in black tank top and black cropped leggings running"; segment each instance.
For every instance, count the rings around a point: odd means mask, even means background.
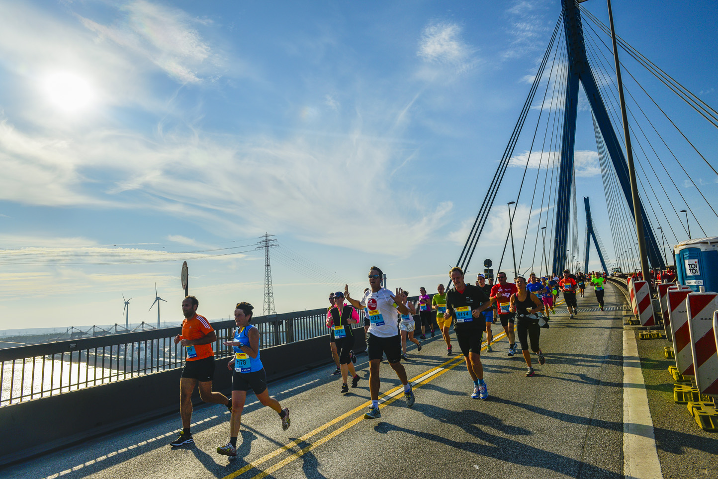
[[[516,283],[518,292],[511,295],[511,311],[516,313],[516,335],[521,343],[521,353],[523,353],[523,359],[526,361],[526,367],[528,368],[526,376],[533,376],[528,341],[531,341],[531,351],[538,354],[538,364],[544,364],[544,354],[538,347],[541,326],[538,326],[538,319],[533,317],[533,313],[544,309],[544,303],[536,298],[535,294],[526,291],[526,278],[518,276],[514,283]]]

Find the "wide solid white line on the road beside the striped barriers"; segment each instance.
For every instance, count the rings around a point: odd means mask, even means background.
[[[625,479],[662,478],[635,341],[633,330],[623,331],[623,474]]]

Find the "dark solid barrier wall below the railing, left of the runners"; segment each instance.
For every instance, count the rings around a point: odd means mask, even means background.
[[[355,353],[365,351],[364,329],[354,331]],[[329,343],[329,336],[320,336],[262,349],[268,381],[333,363]],[[229,359],[215,361],[213,389],[225,394],[230,394],[232,381],[227,369]],[[181,375],[181,368],[172,369],[2,407],[0,431],[5,440],[0,465],[38,455],[38,451],[46,454],[164,414],[177,413],[180,428]],[[192,402],[201,403],[196,390]]]

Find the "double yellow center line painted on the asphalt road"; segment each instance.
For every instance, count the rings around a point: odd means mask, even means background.
[[[506,336],[506,333],[500,333],[500,334],[494,336],[493,341],[491,341],[491,343],[494,344],[497,341],[499,341],[500,339],[504,338],[505,336]],[[484,343],[484,346],[482,346],[482,350],[485,350],[485,349],[486,349],[486,343]],[[463,364],[463,362],[464,362],[463,360],[464,360],[464,356],[457,356],[457,357],[454,357],[447,361],[444,361],[442,364],[439,364],[439,366],[429,369],[428,371],[424,371],[423,373],[419,374],[418,376],[414,376],[412,379],[409,380],[409,382],[412,384],[412,386],[419,387],[422,384],[426,384],[429,381],[432,381],[435,378],[441,376],[446,371],[449,371],[449,369],[453,369],[454,367],[456,367],[460,364]],[[454,364],[451,364],[452,362]],[[451,364],[451,365],[449,366],[449,364]],[[416,384],[414,384],[414,381],[417,381]],[[400,390],[401,390],[401,393],[399,393]],[[391,404],[392,402],[396,401],[396,399],[401,397],[401,394],[404,394],[404,385],[396,386],[393,389],[390,389],[387,392],[380,394],[379,395],[379,407],[383,408],[385,406],[388,406],[388,404]],[[352,409],[349,412],[345,412],[341,416],[339,416],[335,419],[332,419],[330,422],[327,422],[325,425],[317,427],[312,432],[308,432],[307,434],[303,435],[302,437],[299,437],[292,442],[288,442],[286,445],[279,447],[278,449],[274,450],[273,452],[270,452],[269,454],[264,455],[263,457],[260,457],[258,460],[252,461],[248,465],[245,465],[243,468],[236,470],[235,472],[233,472],[229,475],[226,475],[223,479],[236,478],[238,475],[242,475],[243,473],[246,473],[248,470],[256,468],[258,465],[261,465],[263,463],[266,463],[266,461],[273,459],[274,457],[280,455],[282,452],[291,450],[292,447],[294,447],[295,445],[299,445],[300,442],[304,442],[305,440],[309,439],[309,437],[315,436],[315,435],[319,434],[320,432],[322,432],[323,430],[326,430],[328,427],[335,425],[337,422],[340,422],[343,419],[346,419],[347,417],[355,414],[356,412],[359,412],[360,410],[365,409],[370,404],[371,404],[371,401],[368,401],[368,402],[365,402],[364,404],[361,404],[358,407],[355,407],[354,409]],[[262,471],[261,473],[258,473],[252,479],[261,479],[271,473],[274,473],[274,471],[278,470],[279,468],[283,468],[284,465],[291,463],[293,460],[297,460],[299,457],[302,457],[302,455],[306,454],[307,452],[314,449],[315,447],[319,447],[320,445],[324,444],[325,442],[332,439],[333,437],[336,437],[337,435],[340,435],[345,430],[348,430],[350,427],[357,425],[359,422],[363,421],[363,419],[364,419],[363,414],[360,415],[359,417],[355,417],[355,419],[351,420],[350,422],[343,425],[342,427],[337,428],[337,430],[330,432],[325,437],[322,437],[319,440],[308,445],[307,447],[304,447],[302,450],[294,452],[294,454],[290,455],[289,457],[284,458],[284,460],[279,461],[279,463],[276,463],[275,465],[271,466],[271,468],[268,468],[268,469]]]

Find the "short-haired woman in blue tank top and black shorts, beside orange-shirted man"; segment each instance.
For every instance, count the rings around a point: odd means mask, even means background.
[[[279,401],[269,397],[266,384],[266,372],[259,359],[259,331],[252,321],[253,306],[249,303],[238,303],[234,310],[234,341],[225,341],[225,346],[232,346],[234,354],[227,364],[232,373],[232,417],[230,418],[230,442],[219,446],[221,455],[237,455],[237,434],[242,417],[242,409],[247,399],[247,391],[251,388],[259,402],[274,409],[281,418],[281,428],[289,429],[289,408],[282,409]]]

